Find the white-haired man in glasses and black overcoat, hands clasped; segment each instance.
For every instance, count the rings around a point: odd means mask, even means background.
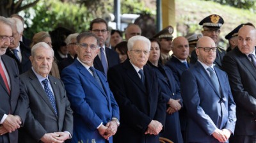
[[[109,86],[120,107],[120,126],[114,142],[156,143],[165,123],[166,102],[156,73],[145,66],[150,41],[144,36],[132,36],[127,45],[129,59],[108,73]]]

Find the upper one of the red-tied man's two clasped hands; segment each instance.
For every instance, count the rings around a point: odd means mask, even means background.
[[[6,130],[9,133],[12,133],[13,131],[20,128],[20,124],[21,124],[20,117],[19,116],[13,116],[11,114],[9,114],[3,122],[4,128],[6,128]]]

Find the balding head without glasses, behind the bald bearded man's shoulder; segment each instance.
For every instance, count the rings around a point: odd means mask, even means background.
[[[181,60],[186,60],[189,56],[189,44],[188,40],[179,36],[172,41],[173,55]]]

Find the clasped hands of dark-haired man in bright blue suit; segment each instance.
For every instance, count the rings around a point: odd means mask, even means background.
[[[100,133],[100,135],[108,140],[109,137],[113,136],[116,134],[118,125],[116,123],[116,121],[109,121],[106,126],[104,126],[103,124],[100,125],[100,127],[98,128],[98,131]]]

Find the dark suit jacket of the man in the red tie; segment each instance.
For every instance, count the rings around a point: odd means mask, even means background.
[[[19,69],[15,61],[6,56],[2,55],[1,59],[3,61],[4,67],[6,68],[9,78],[10,78],[10,89],[11,93],[8,94],[7,88],[4,84],[4,81],[0,75],[0,119],[3,118],[4,114],[17,114],[18,107],[18,102],[20,98],[20,80],[19,80]],[[24,115],[26,115],[26,111],[20,110],[23,112]],[[20,114],[22,115],[22,113]],[[22,116],[20,116],[22,117]],[[24,121],[24,117],[22,117],[22,121]],[[1,126],[1,124],[0,124]],[[10,143],[17,143],[18,142],[18,131],[16,130],[15,132],[12,133],[6,133],[3,136],[9,137]],[[1,140],[0,136],[0,140]],[[1,141],[0,141],[1,142]],[[5,142],[4,142],[5,143]]]

